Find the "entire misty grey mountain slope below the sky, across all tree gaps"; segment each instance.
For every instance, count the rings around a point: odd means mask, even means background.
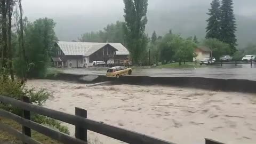
[[[149,36],[156,30],[157,35],[165,35],[170,29],[174,34],[181,34],[183,37],[196,35],[199,39],[205,36],[206,14],[208,7],[187,6],[176,9],[151,9],[148,10],[148,24],[146,33]],[[244,47],[247,43],[256,40],[256,15],[245,17],[236,15],[237,18],[237,39],[238,47]],[[56,17],[56,33],[62,41],[76,40],[86,32],[102,30],[109,23],[117,20],[123,21],[123,13],[86,13],[67,17]]]

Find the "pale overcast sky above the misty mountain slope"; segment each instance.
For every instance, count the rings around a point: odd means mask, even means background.
[[[179,10],[189,6],[207,6],[212,0],[149,0],[150,10]],[[256,14],[255,0],[234,0],[235,13]],[[101,13],[102,17],[123,15],[122,0],[23,0],[25,15],[31,18]],[[186,10],[186,9],[185,9]]]

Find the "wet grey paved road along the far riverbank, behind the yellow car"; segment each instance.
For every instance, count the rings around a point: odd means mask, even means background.
[[[106,70],[88,69],[64,69],[63,73],[85,74],[85,75],[105,75]],[[256,81],[256,64],[251,68],[248,64],[211,66],[207,68],[193,69],[135,69],[132,76],[151,76],[151,77],[206,77],[223,79],[249,79]]]

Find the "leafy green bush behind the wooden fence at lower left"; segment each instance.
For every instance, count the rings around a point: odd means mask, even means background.
[[[52,97],[46,89],[35,91],[34,88],[27,89],[26,83],[21,84],[17,79],[12,82],[11,78],[9,78],[9,76],[4,72],[0,75],[0,95],[18,100],[21,100],[22,96],[26,96],[30,98],[31,103],[37,106],[43,106],[45,101]],[[13,107],[6,103],[1,103],[0,108],[22,116],[22,110],[20,108]],[[33,113],[31,114],[31,119],[39,124],[49,125],[50,127],[58,129],[60,132],[69,134],[67,126],[62,126],[61,123],[55,119]]]

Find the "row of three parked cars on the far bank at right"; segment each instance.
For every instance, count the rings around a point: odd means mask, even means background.
[[[230,57],[230,55],[223,55],[220,57],[220,61],[232,61],[233,58]],[[242,61],[256,61],[256,55],[245,55],[243,58],[242,58]],[[215,58],[213,57],[208,57],[208,58],[204,58],[201,60],[200,62],[200,65],[208,65],[208,64],[212,64],[216,61]]]

